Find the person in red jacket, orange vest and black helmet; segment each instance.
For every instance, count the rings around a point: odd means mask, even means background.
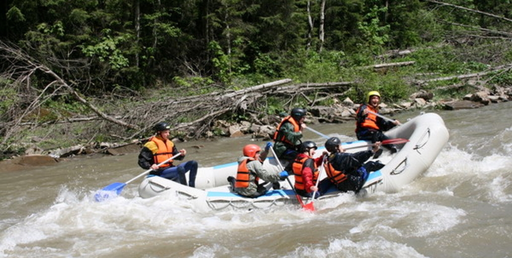
[[[300,153],[293,161],[292,171],[295,176],[295,192],[304,197],[311,197],[313,192],[318,191],[316,187],[316,180],[318,180],[318,167],[322,165],[324,156],[313,159],[316,144],[311,141],[306,141],[301,144]],[[324,154],[327,154],[325,152]],[[316,197],[319,192],[316,192]]]

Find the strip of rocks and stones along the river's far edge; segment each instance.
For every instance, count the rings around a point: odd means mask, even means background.
[[[426,91],[416,92],[410,96],[410,100],[400,103],[386,104],[381,103],[380,112],[382,114],[398,113],[405,110],[433,110],[446,109],[457,110],[467,108],[478,108],[485,105],[512,100],[512,87],[501,90],[480,90],[475,93],[464,96],[461,100],[441,100],[433,101],[433,94]],[[331,106],[313,106],[308,108],[307,123],[345,123],[353,122],[355,111],[359,104],[355,104],[349,98],[338,101]],[[280,122],[281,117],[276,115],[267,115],[263,119],[257,119],[255,115],[251,116],[249,121],[240,123],[229,123],[224,120],[214,122],[211,130],[207,132],[206,137],[240,137],[247,134],[254,138],[262,140],[270,139],[275,130],[275,126]],[[141,145],[147,139],[139,139],[129,143],[91,143],[87,145],[75,145],[69,148],[58,148],[52,150],[42,150],[37,147],[27,148],[25,155],[13,157],[4,160],[4,171],[23,169],[24,166],[46,166],[51,165],[63,158],[69,158],[80,155],[122,155],[125,153],[138,152]],[[180,139],[175,138],[175,141]],[[200,146],[198,146],[200,148]]]

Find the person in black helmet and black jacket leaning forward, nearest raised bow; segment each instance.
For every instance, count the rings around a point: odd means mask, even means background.
[[[324,163],[327,178],[318,185],[321,194],[325,194],[332,186],[342,192],[357,193],[365,184],[371,171],[384,167],[379,161],[366,162],[379,150],[380,142],[376,142],[372,150],[356,153],[346,153],[341,144],[337,137],[331,137],[325,143],[325,148],[331,154]]]

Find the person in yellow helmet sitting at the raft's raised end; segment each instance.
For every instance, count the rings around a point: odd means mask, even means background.
[[[355,133],[359,140],[371,140],[372,143],[381,142],[382,140],[389,139],[383,131],[387,131],[396,125],[400,125],[398,120],[390,122],[376,116],[374,113],[379,112],[380,93],[378,91],[370,91],[367,95],[367,104],[362,104],[356,111],[356,129]],[[396,147],[392,144],[384,145],[391,153],[395,153]],[[382,151],[377,153],[375,158],[380,155]]]

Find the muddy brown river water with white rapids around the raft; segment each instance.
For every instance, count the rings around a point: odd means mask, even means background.
[[[512,257],[511,108],[436,111],[450,140],[421,178],[394,194],[315,203],[314,213],[200,213],[166,196],[141,199],[140,180],[118,198],[95,202],[98,189],[143,172],[137,153],[2,173],[0,257]],[[353,123],[311,127],[354,139]],[[309,131],[305,138],[324,142]],[[207,167],[235,161],[248,143],[242,137],[178,147]]]

